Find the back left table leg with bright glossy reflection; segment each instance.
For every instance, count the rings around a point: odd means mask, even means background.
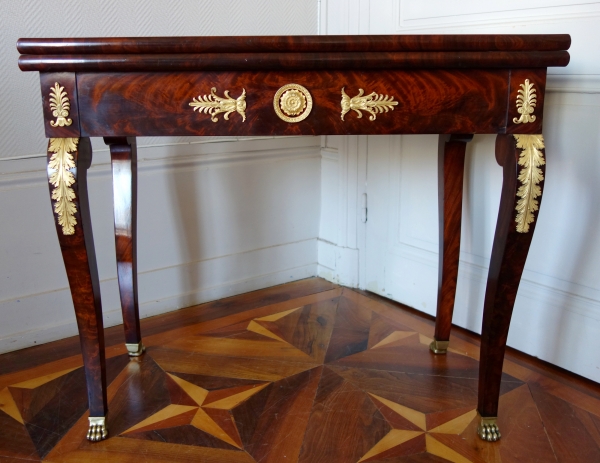
[[[113,173],[117,276],[125,327],[125,346],[131,357],[144,352],[140,332],[137,288],[137,149],[136,140],[104,138],[110,147]]]

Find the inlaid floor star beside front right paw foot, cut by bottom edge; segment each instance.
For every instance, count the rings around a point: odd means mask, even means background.
[[[450,434],[459,435],[464,432],[467,426],[477,416],[476,410],[471,410],[458,417],[455,417],[445,423],[438,424],[435,427],[429,428],[427,425],[427,416],[425,413],[421,413],[417,410],[413,410],[404,405],[392,402],[391,400],[384,399],[375,394],[369,393],[371,400],[378,408],[385,408],[388,412],[391,411],[397,415],[400,415],[404,420],[412,423],[413,429],[392,429],[386,434],[379,442],[377,442],[363,457],[358,460],[358,463],[379,460],[389,458],[392,455],[399,456],[403,453],[403,446],[406,449],[406,455],[414,453],[422,453],[425,451],[431,455],[443,458],[453,463],[472,463],[472,460],[461,455],[456,450],[451,449],[447,445],[436,439],[436,435]],[[392,424],[392,423],[390,423]],[[392,424],[392,427],[394,425]],[[406,426],[409,427],[409,426]],[[424,442],[424,449],[414,450],[414,446],[410,445],[410,441],[413,439],[421,439]],[[416,447],[419,447],[417,445]],[[413,448],[413,450],[411,450]]]

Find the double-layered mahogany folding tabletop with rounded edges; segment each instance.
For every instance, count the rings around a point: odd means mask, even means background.
[[[23,71],[252,71],[566,66],[571,38],[361,35],[20,39]]]

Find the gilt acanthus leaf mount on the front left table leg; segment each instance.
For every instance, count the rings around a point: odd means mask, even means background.
[[[54,212],[63,235],[73,235],[77,225],[75,191],[71,188],[75,176],[71,169],[75,168],[73,153],[78,143],[79,138],[51,138],[48,145],[48,151],[53,153],[48,161],[48,181],[54,187],[51,198],[55,201]]]

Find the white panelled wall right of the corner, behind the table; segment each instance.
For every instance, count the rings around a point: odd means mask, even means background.
[[[592,347],[600,338],[598,24],[600,2],[593,1],[323,0],[320,29],[327,34],[571,34],[571,63],[549,71],[544,198],[508,344],[595,381],[600,381],[600,357]],[[319,275],[435,314],[436,137],[363,138],[326,137],[323,143]],[[466,160],[454,322],[475,332],[481,329],[502,183],[494,140],[475,136]],[[336,204],[347,206],[344,219],[328,212]]]

